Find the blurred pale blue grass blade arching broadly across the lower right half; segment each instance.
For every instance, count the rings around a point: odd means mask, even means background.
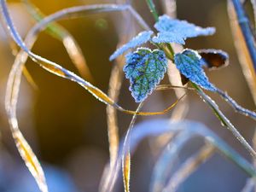
[[[212,143],[215,146],[220,154],[224,154],[231,162],[235,163],[236,166],[239,166],[243,172],[246,172],[250,177],[256,177],[256,170],[250,165],[247,160],[241,157],[240,154],[237,154],[236,151],[224,141],[221,140],[218,136],[216,136],[212,131],[208,130],[205,125],[201,123],[190,121],[190,120],[182,120],[182,121],[170,121],[170,119],[150,119],[135,125],[131,131],[131,154],[136,150],[137,145],[143,141],[145,137],[158,137],[163,134],[176,134],[179,131],[189,131],[188,137],[191,136],[201,136],[207,139],[207,143]],[[183,137],[180,137],[183,139]],[[122,139],[120,142],[120,147],[124,145],[124,140]],[[173,140],[172,140],[173,141]],[[169,145],[171,148],[175,148],[173,145]],[[169,148],[170,149],[170,148]],[[117,183],[117,178],[119,176],[119,170],[121,165],[121,154],[122,150],[119,150],[119,158],[117,159],[115,166],[109,167],[105,169],[105,172],[102,176],[102,183],[100,187],[101,192],[113,191],[114,185]],[[166,153],[162,153],[163,155]],[[175,154],[170,155],[170,157],[175,158]],[[163,170],[166,170],[166,167],[170,164],[167,163],[166,166],[163,166]],[[156,166],[155,166],[156,167]],[[158,170],[158,168],[156,168]],[[161,175],[161,173],[160,173]],[[153,181],[153,180],[152,180]],[[162,181],[162,178],[160,178]],[[153,185],[151,185],[153,186]],[[150,188],[152,189],[152,188]]]

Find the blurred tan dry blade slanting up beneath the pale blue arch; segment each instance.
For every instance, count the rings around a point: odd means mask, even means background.
[[[170,181],[167,183],[163,191],[175,192],[178,186],[186,180],[189,175],[191,175],[195,170],[201,166],[203,162],[210,159],[212,154],[214,154],[215,148],[206,144],[203,146],[196,154],[189,157],[183,165],[173,174]]]

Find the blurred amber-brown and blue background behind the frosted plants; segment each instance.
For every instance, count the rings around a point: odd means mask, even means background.
[[[157,9],[163,13],[161,1]],[[20,1],[8,1],[15,26],[24,38],[28,30],[35,24],[27,14]],[[114,1],[98,0],[33,0],[45,15],[70,6],[94,3],[114,3]],[[154,18],[150,15],[143,0],[133,1],[135,9],[143,15],[148,25],[153,26]],[[207,72],[213,84],[227,90],[241,106],[255,110],[247,82],[241,72],[237,60],[234,41],[230,32],[227,5],[224,0],[177,0],[177,18],[188,20],[198,26],[215,26],[217,32],[211,37],[193,38],[187,41],[186,47],[191,49],[224,49],[230,55],[230,66],[222,70]],[[108,92],[108,82],[114,63],[108,61],[109,55],[116,49],[119,40],[119,25],[124,25],[125,16],[120,13],[84,16],[73,20],[59,22],[77,40],[90,68],[92,79],[104,92]],[[142,31],[136,28],[137,32]],[[1,192],[34,192],[38,191],[30,173],[15,148],[9,131],[7,115],[4,110],[4,94],[10,67],[15,57],[9,48],[9,38],[0,30],[0,191]],[[50,61],[60,63],[63,67],[78,73],[60,41],[41,32],[32,49],[38,55]],[[96,192],[104,166],[108,163],[108,126],[106,106],[91,96],[78,84],[56,77],[38,67],[33,61],[26,62],[28,71],[38,85],[32,88],[26,79],[22,79],[18,102],[18,119],[20,130],[31,144],[46,172],[50,192]],[[163,83],[167,83],[164,79]],[[137,103],[131,98],[128,90],[129,82],[124,80],[119,97],[121,106],[136,109]],[[217,95],[209,93],[218,102],[224,114],[236,125],[241,134],[252,140],[255,122],[235,113]],[[174,92],[154,93],[149,97],[144,110],[159,111],[175,101]],[[172,113],[172,112],[171,112]],[[119,135],[124,136],[131,121],[131,115],[118,113]],[[138,118],[137,122],[147,119],[169,118],[170,113],[157,117]],[[189,93],[189,113],[186,119],[198,120],[222,137],[247,160],[250,156],[241,147],[229,131],[220,125],[208,106],[195,93]],[[152,148],[154,138],[144,140],[139,145],[131,161],[131,191],[147,192],[150,174],[157,160]],[[180,161],[186,154],[195,151],[200,145],[197,139],[192,140],[180,154]],[[178,164],[179,162],[177,162]],[[214,154],[199,170],[191,175],[178,191],[189,192],[227,192],[241,191],[246,183],[247,175],[241,172],[229,160]],[[119,184],[116,191],[123,191]]]

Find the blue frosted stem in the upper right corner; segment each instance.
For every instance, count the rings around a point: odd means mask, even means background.
[[[247,44],[247,49],[249,51],[250,57],[253,61],[254,72],[256,73],[256,48],[254,45],[253,33],[251,31],[250,22],[247,15],[242,7],[240,0],[232,0],[234,8],[236,10],[236,16],[241,27],[242,35]]]

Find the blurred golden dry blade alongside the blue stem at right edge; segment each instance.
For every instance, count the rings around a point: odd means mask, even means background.
[[[230,1],[228,1],[228,13],[230,17],[230,26],[234,37],[233,39],[235,40],[236,52],[241,64],[242,72],[247,79],[247,84],[250,87],[253,100],[256,102],[256,74],[254,72],[253,61],[249,55],[247,45],[236,19],[235,9]]]

